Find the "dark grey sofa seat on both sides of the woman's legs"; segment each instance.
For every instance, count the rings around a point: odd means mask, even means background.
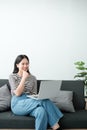
[[[64,129],[87,128],[87,111],[64,113],[60,119]],[[11,111],[0,113],[0,129],[34,129],[35,118],[31,116],[16,116]]]

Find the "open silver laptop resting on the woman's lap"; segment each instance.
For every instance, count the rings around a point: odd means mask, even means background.
[[[58,96],[58,91],[61,87],[61,80],[41,81],[40,90],[37,95],[28,95],[33,99],[51,99]]]

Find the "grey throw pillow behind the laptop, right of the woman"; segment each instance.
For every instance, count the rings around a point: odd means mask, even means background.
[[[73,92],[72,91],[63,91],[60,90],[58,93],[58,97],[51,99],[54,104],[58,106],[59,109],[67,112],[75,112],[73,106]]]

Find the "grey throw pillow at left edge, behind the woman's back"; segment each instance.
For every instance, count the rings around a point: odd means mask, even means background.
[[[11,93],[7,84],[0,87],[0,111],[5,111],[10,107]]]

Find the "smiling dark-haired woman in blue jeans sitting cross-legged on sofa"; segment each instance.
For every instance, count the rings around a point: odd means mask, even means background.
[[[37,93],[37,80],[29,72],[29,58],[26,55],[17,56],[9,83],[11,110],[14,114],[34,116],[35,130],[46,130],[47,124],[53,130],[60,128],[58,122],[63,114],[49,99],[35,100],[27,97],[27,94]]]

